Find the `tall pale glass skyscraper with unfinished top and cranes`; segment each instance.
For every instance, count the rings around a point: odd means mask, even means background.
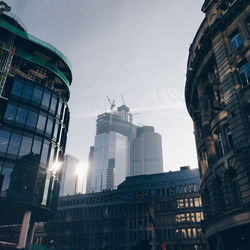
[[[126,105],[97,117],[90,189],[98,192],[114,189],[129,175],[130,139],[136,126]],[[93,150],[93,149],[92,149]]]

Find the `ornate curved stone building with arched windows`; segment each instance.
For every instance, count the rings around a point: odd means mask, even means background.
[[[194,122],[211,250],[250,246],[250,3],[206,0],[189,50],[186,105]]]

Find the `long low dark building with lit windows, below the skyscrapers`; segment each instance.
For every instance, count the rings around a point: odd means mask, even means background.
[[[54,249],[203,249],[199,171],[127,177],[118,189],[60,197],[34,243]]]

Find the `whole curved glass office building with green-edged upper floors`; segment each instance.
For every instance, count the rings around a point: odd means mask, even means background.
[[[8,37],[15,37],[8,47]],[[0,99],[0,223],[19,223],[25,211],[46,220],[56,209],[59,162],[69,123],[70,64],[56,48],[14,19],[0,19],[1,63],[15,49]]]

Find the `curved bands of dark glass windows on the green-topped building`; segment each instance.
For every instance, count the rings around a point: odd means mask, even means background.
[[[54,210],[59,192],[53,164],[62,160],[69,111],[50,89],[15,77],[0,127],[0,198]]]

